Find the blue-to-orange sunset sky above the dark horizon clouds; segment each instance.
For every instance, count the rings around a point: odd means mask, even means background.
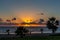
[[[16,17],[19,21],[35,21],[51,16],[59,19],[60,0],[0,0],[0,18],[4,20]]]

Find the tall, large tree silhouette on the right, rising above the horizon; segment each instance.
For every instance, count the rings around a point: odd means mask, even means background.
[[[57,26],[59,25],[59,21],[56,20],[55,17],[51,17],[49,18],[49,20],[47,21],[47,28],[48,29],[52,29],[52,33],[55,33],[55,31],[57,30]]]

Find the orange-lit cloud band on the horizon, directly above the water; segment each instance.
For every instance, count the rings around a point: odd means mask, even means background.
[[[0,27],[46,27],[46,23],[0,23]],[[60,21],[59,21],[59,27],[60,27]]]

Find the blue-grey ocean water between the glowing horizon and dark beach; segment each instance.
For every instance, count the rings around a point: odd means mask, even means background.
[[[39,33],[41,28],[43,29],[43,33],[52,33],[52,31],[47,27],[27,27],[26,29],[32,33]],[[15,33],[17,27],[0,27],[0,33],[6,33],[6,30],[8,29],[10,30],[10,33]],[[60,33],[60,27],[58,27],[56,33]]]

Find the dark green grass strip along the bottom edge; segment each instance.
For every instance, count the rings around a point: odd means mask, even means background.
[[[47,36],[47,37],[10,37],[10,38],[0,38],[0,40],[60,40],[60,36]]]

